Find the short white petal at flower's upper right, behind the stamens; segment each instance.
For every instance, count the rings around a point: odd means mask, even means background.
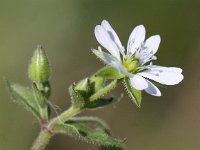
[[[144,43],[145,50],[150,54],[154,55],[158,51],[160,41],[161,39],[159,35],[151,36]]]

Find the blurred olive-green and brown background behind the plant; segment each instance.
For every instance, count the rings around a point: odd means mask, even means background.
[[[0,0],[0,149],[28,150],[39,126],[13,103],[3,77],[30,85],[27,66],[37,44],[45,47],[53,68],[51,100],[70,105],[68,86],[103,66],[94,27],[107,19],[123,45],[134,26],[147,37],[161,35],[155,64],[183,68],[177,86],[160,87],[162,97],[144,93],[138,109],[126,96],[117,104],[84,113],[99,116],[129,150],[200,149],[200,1],[199,0]],[[113,94],[119,96],[123,87]],[[96,150],[90,144],[57,135],[47,150]]]

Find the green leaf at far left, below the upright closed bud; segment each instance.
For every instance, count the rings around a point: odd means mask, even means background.
[[[32,90],[16,83],[9,81],[6,82],[14,101],[23,104],[27,110],[31,111],[33,115],[40,120],[41,116],[39,113],[39,108],[37,102],[35,101]]]

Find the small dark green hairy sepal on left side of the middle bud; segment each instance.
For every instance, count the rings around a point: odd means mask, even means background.
[[[75,84],[69,87],[69,94],[72,100],[72,105],[77,108],[84,108],[85,99],[77,90],[75,90]]]

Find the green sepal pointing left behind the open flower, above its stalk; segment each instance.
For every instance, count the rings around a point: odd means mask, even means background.
[[[105,79],[121,79],[125,77],[125,75],[112,66],[103,67],[95,75]]]

